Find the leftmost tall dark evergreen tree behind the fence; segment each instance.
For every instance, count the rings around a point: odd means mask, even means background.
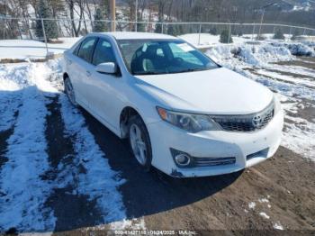
[[[53,18],[52,12],[49,8],[47,0],[40,0],[38,2],[38,18]],[[44,28],[45,28],[45,34],[47,41],[51,39],[57,39],[58,38],[58,26],[55,21],[51,20],[44,20]],[[41,21],[36,22],[36,36],[38,38],[43,38],[43,31],[42,31],[42,24]]]

